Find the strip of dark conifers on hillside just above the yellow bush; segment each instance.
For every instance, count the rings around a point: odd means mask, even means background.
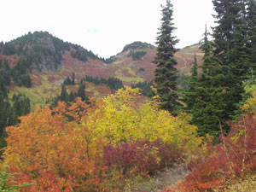
[[[92,77],[92,76],[85,76],[84,81],[91,82],[94,84],[106,84],[110,90],[119,90],[124,87],[122,81],[117,78],[110,77],[108,79],[98,77]]]

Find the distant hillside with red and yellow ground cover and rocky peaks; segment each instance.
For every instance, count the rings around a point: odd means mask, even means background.
[[[195,53],[201,64],[202,54],[198,48],[199,45],[194,45],[177,52],[175,57],[180,74],[189,73]],[[119,54],[103,59],[79,45],[55,38],[49,32],[29,32],[0,44],[0,59],[9,62],[13,74],[8,86],[9,97],[14,93],[25,93],[31,98],[32,106],[59,95],[61,83],[73,73],[76,79],[86,75],[105,79],[114,77],[126,85],[149,82],[154,79],[155,54],[153,45],[134,42],[125,45]],[[25,80],[19,82],[20,77]],[[31,83],[27,85],[29,78]],[[111,92],[105,84],[88,82],[85,87],[87,96],[104,96]],[[67,90],[75,92],[78,86],[67,86]]]

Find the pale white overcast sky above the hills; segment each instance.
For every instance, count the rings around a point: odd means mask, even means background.
[[[177,48],[198,43],[214,26],[212,0],[171,0]],[[47,31],[101,57],[134,41],[156,42],[166,0],[0,0],[0,42]]]

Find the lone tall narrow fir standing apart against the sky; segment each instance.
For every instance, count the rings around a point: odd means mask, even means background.
[[[168,110],[172,114],[177,114],[178,94],[177,94],[177,61],[174,59],[174,48],[178,40],[173,36],[176,29],[172,23],[172,3],[166,0],[166,6],[162,7],[162,19],[160,32],[158,32],[157,54],[154,59],[156,69],[154,72],[157,94],[160,96],[161,108]]]

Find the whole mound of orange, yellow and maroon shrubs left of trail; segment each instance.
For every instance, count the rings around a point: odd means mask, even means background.
[[[198,148],[188,115],[173,117],[138,95],[126,87],[90,106],[78,98],[37,108],[6,129],[5,164],[36,183],[27,191],[118,191],[125,172],[155,172]]]

